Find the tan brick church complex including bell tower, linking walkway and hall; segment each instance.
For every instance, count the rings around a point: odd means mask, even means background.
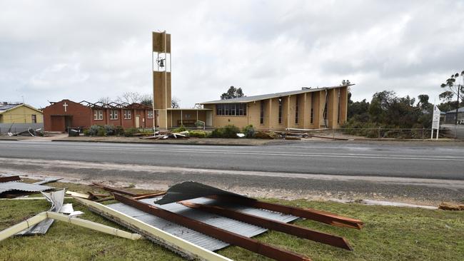
[[[302,88],[199,103],[203,108],[171,106],[171,35],[153,32],[153,98],[160,129],[203,121],[206,127],[253,125],[261,130],[337,128],[346,122],[348,86]]]

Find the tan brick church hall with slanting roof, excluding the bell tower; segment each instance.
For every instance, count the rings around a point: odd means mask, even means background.
[[[253,125],[261,130],[338,128],[346,122],[348,86],[303,88],[200,103],[213,111],[213,127]]]

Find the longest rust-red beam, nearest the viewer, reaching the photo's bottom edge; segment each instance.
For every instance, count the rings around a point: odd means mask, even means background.
[[[273,247],[272,245],[258,242],[258,240],[254,240],[252,238],[245,237],[243,235],[238,235],[234,232],[223,230],[222,228],[214,227],[212,225],[208,225],[198,220],[193,220],[191,218],[184,217],[183,215],[172,213],[171,211],[168,211],[168,210],[163,210],[162,208],[157,208],[154,205],[149,205],[141,201],[128,198],[118,193],[114,193],[114,198],[121,203],[130,205],[131,207],[141,210],[145,213],[156,215],[159,218],[169,220],[178,225],[188,227],[191,230],[201,232],[205,235],[214,237],[218,240],[222,240],[223,242],[227,242],[231,245],[243,247],[246,250],[256,252],[266,257],[271,257],[275,260],[288,260],[288,261],[310,260],[308,257],[305,257],[303,255],[299,255],[299,254],[296,254],[296,253],[293,253],[287,250],[280,249],[278,247]]]

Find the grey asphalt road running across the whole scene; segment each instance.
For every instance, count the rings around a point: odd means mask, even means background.
[[[462,143],[311,141],[212,146],[0,141],[0,157],[278,173],[464,180]]]

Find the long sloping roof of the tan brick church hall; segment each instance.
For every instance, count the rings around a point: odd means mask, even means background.
[[[324,91],[324,90],[330,90],[330,89],[333,89],[333,88],[348,87],[348,86],[353,86],[353,85],[354,84],[341,85],[341,86],[331,86],[331,87],[322,87],[322,88],[303,88],[302,90],[285,91],[283,93],[269,93],[269,94],[262,94],[262,95],[256,95],[256,96],[245,96],[245,97],[240,97],[240,98],[231,98],[231,99],[226,99],[226,100],[205,101],[205,102],[199,103],[199,104],[249,103],[251,101],[260,101],[260,100],[266,100],[266,99],[270,99],[270,98],[278,98],[278,97],[296,95],[296,94],[301,94],[301,93],[312,93],[314,91]]]

